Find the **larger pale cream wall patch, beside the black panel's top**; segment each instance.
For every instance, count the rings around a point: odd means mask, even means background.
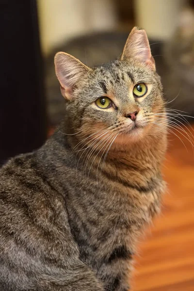
[[[38,13],[44,54],[60,41],[117,23],[113,0],[38,0]]]

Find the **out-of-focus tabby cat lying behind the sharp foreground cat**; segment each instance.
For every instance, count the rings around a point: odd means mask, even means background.
[[[88,65],[100,65],[120,54],[126,38],[125,32],[99,32],[62,43],[56,50],[73,54]],[[181,11],[169,40],[151,39],[150,44],[168,107],[194,116],[194,10]],[[54,76],[53,56],[54,52],[46,59],[46,91],[49,123],[55,126],[63,119],[65,106]]]

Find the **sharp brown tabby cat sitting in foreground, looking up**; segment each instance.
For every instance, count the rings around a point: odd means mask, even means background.
[[[167,119],[146,32],[134,28],[106,65],[59,52],[55,67],[65,122],[0,170],[0,290],[127,291],[165,191]]]

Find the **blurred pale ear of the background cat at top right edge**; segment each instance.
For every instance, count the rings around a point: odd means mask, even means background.
[[[178,18],[178,29],[182,37],[194,35],[194,9],[184,8]]]

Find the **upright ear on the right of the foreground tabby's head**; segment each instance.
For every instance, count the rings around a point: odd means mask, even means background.
[[[137,59],[148,65],[152,70],[156,70],[145,30],[139,30],[134,27],[130,32],[121,55],[121,61],[129,58]]]

